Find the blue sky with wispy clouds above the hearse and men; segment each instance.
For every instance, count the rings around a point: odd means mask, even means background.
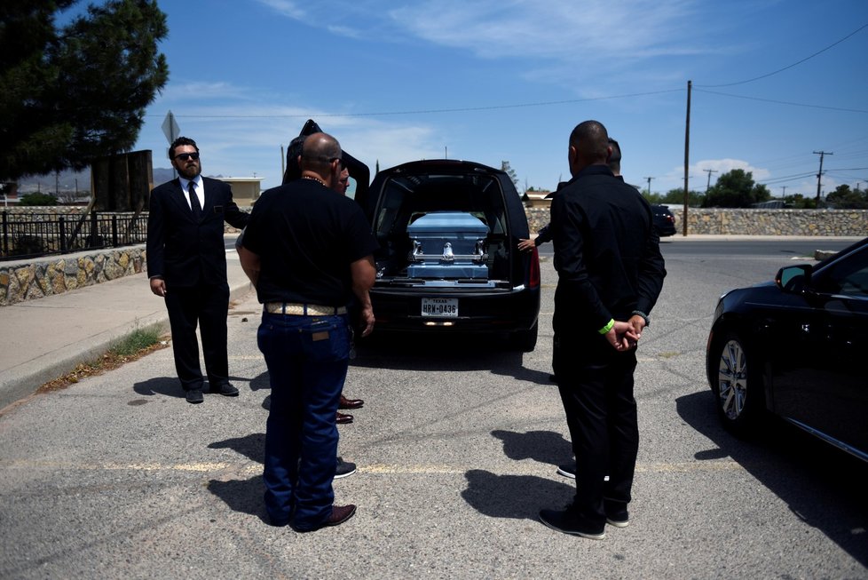
[[[154,167],[171,111],[206,175],[274,187],[281,145],[313,118],[372,171],[509,161],[522,187],[554,188],[570,131],[596,119],[627,181],[663,193],[683,187],[691,80],[690,189],[743,168],[814,196],[815,151],[832,154],[824,193],[868,186],[865,0],[159,4],[170,80],[136,147]]]

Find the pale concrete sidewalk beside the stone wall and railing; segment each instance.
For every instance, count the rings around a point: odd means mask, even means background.
[[[230,300],[253,290],[235,250],[226,266]],[[169,315],[144,273],[0,308],[0,409],[152,325],[168,332]]]

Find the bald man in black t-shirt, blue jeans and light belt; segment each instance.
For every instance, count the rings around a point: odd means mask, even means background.
[[[241,266],[264,305],[258,345],[272,385],[265,430],[265,507],[277,526],[336,526],[355,505],[333,505],[335,413],[350,355],[347,305],[359,301],[362,336],[374,330],[368,290],[377,242],[361,208],[332,188],[341,147],[304,140],[301,179],[256,202]]]

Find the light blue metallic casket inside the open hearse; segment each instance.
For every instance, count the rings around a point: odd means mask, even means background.
[[[488,226],[464,211],[431,211],[406,228],[413,241],[411,278],[488,279]]]

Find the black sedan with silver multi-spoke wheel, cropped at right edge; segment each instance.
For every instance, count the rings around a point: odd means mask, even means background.
[[[724,294],[706,346],[723,425],[753,434],[770,411],[868,461],[866,329],[868,238]]]

